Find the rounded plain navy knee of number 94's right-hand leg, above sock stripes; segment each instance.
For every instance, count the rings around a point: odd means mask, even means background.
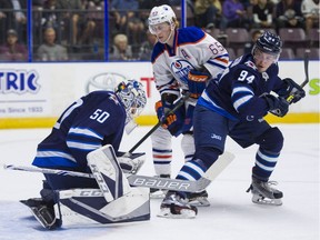
[[[277,127],[270,128],[257,138],[257,144],[264,150],[280,152],[283,147],[283,136]]]

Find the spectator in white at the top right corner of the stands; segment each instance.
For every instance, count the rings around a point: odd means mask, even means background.
[[[309,34],[311,28],[319,28],[319,0],[302,0],[301,11],[306,19],[307,34]]]

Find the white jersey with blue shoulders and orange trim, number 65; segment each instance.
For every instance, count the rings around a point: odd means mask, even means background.
[[[214,38],[196,27],[176,30],[173,47],[157,42],[151,62],[156,87],[163,92],[179,96],[188,91],[188,73],[206,68],[212,77],[228,67],[229,54]]]

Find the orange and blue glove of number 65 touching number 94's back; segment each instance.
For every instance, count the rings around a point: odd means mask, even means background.
[[[191,98],[198,99],[207,86],[207,80],[210,78],[209,72],[201,72],[197,70],[191,70],[188,73],[188,88],[191,93]]]

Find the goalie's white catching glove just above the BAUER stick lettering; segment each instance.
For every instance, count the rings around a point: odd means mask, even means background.
[[[126,152],[124,154],[118,157],[117,159],[124,173],[136,174],[144,163],[146,160],[144,154],[146,152],[139,152],[139,153]]]

